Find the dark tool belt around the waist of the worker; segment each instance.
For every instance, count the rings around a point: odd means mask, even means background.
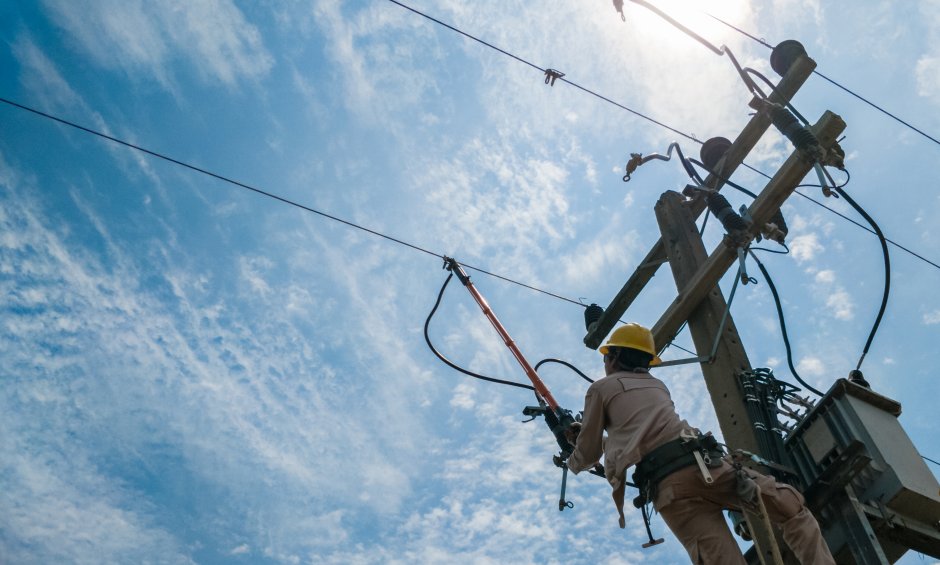
[[[696,465],[696,452],[709,467],[719,466],[724,457],[718,440],[711,434],[677,438],[647,453],[633,473],[633,483],[640,490],[640,496],[633,500],[633,505],[641,508],[651,502],[656,498],[656,487],[661,480],[680,469]]]

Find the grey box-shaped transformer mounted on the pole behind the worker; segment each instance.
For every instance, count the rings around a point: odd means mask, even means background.
[[[940,484],[898,422],[901,405],[839,379],[785,440],[838,563],[940,558]]]

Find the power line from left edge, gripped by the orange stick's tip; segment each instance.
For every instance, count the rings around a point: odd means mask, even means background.
[[[218,179],[218,180],[220,180],[220,181],[222,181],[222,182],[226,182],[226,183],[235,185],[235,186],[237,186],[237,187],[239,187],[239,188],[243,188],[243,189],[246,189],[246,190],[250,190],[251,192],[254,192],[254,193],[256,193],[256,194],[260,194],[260,195],[262,195],[262,196],[266,196],[266,197],[268,197],[268,198],[272,198],[272,199],[274,199],[274,200],[277,200],[278,202],[282,202],[282,203],[284,203],[284,204],[289,204],[290,206],[294,206],[295,208],[300,208],[301,210],[304,210],[305,212],[311,212],[311,213],[313,213],[313,214],[317,214],[317,215],[322,216],[322,217],[324,217],[324,218],[328,218],[328,219],[333,220],[333,221],[335,221],[335,222],[339,222],[339,223],[341,223],[341,224],[344,224],[344,225],[346,225],[346,226],[348,226],[348,227],[355,228],[355,229],[357,229],[357,230],[362,230],[362,231],[364,231],[364,232],[366,232],[366,233],[369,233],[369,234],[372,234],[372,235],[375,235],[375,236],[378,236],[378,237],[387,239],[388,241],[391,241],[391,242],[393,242],[393,243],[397,243],[397,244],[399,244],[399,245],[403,245],[403,246],[405,246],[405,247],[409,247],[409,248],[411,248],[411,249],[414,249],[415,251],[420,251],[421,253],[426,253],[426,254],[428,254],[428,255],[431,255],[431,256],[433,256],[433,257],[437,257],[437,258],[439,258],[439,259],[443,259],[443,258],[444,258],[444,255],[441,254],[441,253],[435,253],[435,252],[433,252],[433,251],[430,251],[430,250],[428,250],[428,249],[425,249],[424,247],[420,247],[420,246],[415,245],[415,244],[413,244],[413,243],[408,243],[407,241],[404,241],[404,240],[398,239],[398,238],[396,238],[396,237],[392,237],[392,236],[390,236],[390,235],[384,234],[384,233],[382,233],[382,232],[379,232],[379,231],[376,231],[376,230],[367,228],[367,227],[362,226],[362,225],[360,225],[360,224],[357,224],[357,223],[354,223],[354,222],[350,222],[350,221],[348,221],[348,220],[344,220],[344,219],[342,219],[342,218],[339,218],[339,217],[334,216],[334,215],[332,215],[332,214],[328,214],[328,213],[323,212],[323,211],[321,211],[321,210],[317,210],[317,209],[315,209],[315,208],[311,208],[310,206],[306,206],[306,205],[301,204],[301,203],[299,203],[299,202],[296,202],[296,201],[294,201],[294,200],[290,200],[290,199],[285,198],[285,197],[283,197],[283,196],[278,196],[277,194],[268,192],[268,191],[266,191],[266,190],[262,190],[262,189],[260,189],[260,188],[251,186],[251,185],[249,185],[249,184],[245,184],[245,183],[243,183],[243,182],[240,182],[240,181],[237,181],[237,180],[235,180],[235,179],[226,177],[226,176],[224,176],[224,175],[220,175],[220,174],[218,174],[218,173],[214,173],[214,172],[212,172],[212,171],[210,171],[210,170],[208,170],[208,169],[204,169],[204,168],[202,168],[202,167],[197,167],[196,165],[192,165],[192,164],[187,163],[187,162],[185,162],[185,161],[181,161],[181,160],[179,160],[179,159],[176,159],[176,158],[170,157],[170,156],[168,156],[168,155],[165,155],[165,154],[163,154],[163,153],[159,153],[159,152],[157,152],[157,151],[153,151],[153,150],[147,149],[146,147],[142,147],[142,146],[140,146],[140,145],[131,143],[131,142],[129,142],[129,141],[125,141],[125,140],[123,140],[123,139],[119,139],[119,138],[117,138],[117,137],[114,137],[114,136],[111,136],[111,135],[102,133],[102,132],[100,132],[100,131],[97,131],[97,130],[94,130],[94,129],[91,129],[91,128],[88,128],[88,127],[85,127],[85,126],[82,126],[82,125],[79,125],[79,124],[77,124],[77,123],[75,123],[75,122],[71,122],[71,121],[69,121],[69,120],[60,118],[60,117],[58,117],[58,116],[53,116],[52,114],[47,114],[46,112],[43,112],[43,111],[41,111],[41,110],[37,110],[37,109],[35,109],[35,108],[31,108],[31,107],[29,107],[29,106],[25,106],[25,105],[20,104],[20,103],[18,103],[18,102],[14,102],[14,101],[12,101],[12,100],[8,100],[8,99],[2,98],[2,97],[0,97],[0,102],[3,102],[4,104],[8,104],[8,105],[13,106],[13,107],[15,107],[15,108],[19,108],[19,109],[21,109],[21,110],[25,110],[25,111],[30,112],[30,113],[32,113],[32,114],[35,114],[35,115],[37,115],[37,116],[41,116],[41,117],[43,117],[43,118],[52,120],[52,121],[54,121],[54,122],[58,122],[58,123],[60,123],[60,124],[63,124],[63,125],[66,125],[66,126],[75,128],[75,129],[80,130],[80,131],[83,131],[83,132],[85,132],[85,133],[89,133],[89,134],[91,134],[91,135],[100,137],[100,138],[102,138],[102,139],[106,139],[106,140],[111,141],[111,142],[113,142],[113,143],[117,143],[117,144],[123,145],[123,146],[125,146],[125,147],[129,147],[129,148],[134,149],[134,150],[136,150],[136,151],[140,151],[141,153],[145,153],[145,154],[147,154],[147,155],[150,155],[151,157],[156,157],[156,158],[158,158],[158,159],[162,159],[162,160],[164,160],[164,161],[168,161],[168,162],[170,162],[170,163],[173,163],[174,165],[179,165],[179,166],[181,166],[181,167],[185,167],[185,168],[190,169],[190,170],[192,170],[192,171],[195,171],[195,172],[197,172],[197,173],[201,173],[201,174],[203,174],[203,175],[210,176],[210,177],[212,177],[212,178],[214,178],[214,179]],[[501,280],[506,281],[506,282],[508,282],[508,283],[512,283],[512,284],[521,286],[521,287],[523,287],[523,288],[527,288],[527,289],[529,289],[529,290],[533,290],[533,291],[535,291],[535,292],[540,292],[540,293],[542,293],[542,294],[545,294],[545,295],[547,295],[547,296],[551,296],[551,297],[553,297],[553,298],[557,298],[557,299],[559,299],[559,300],[564,300],[564,301],[570,302],[570,303],[572,303],[572,304],[577,304],[578,306],[581,306],[582,308],[585,307],[584,304],[582,304],[581,302],[579,302],[579,301],[577,301],[577,300],[572,300],[571,298],[566,298],[566,297],[561,296],[561,295],[559,295],[559,294],[555,294],[555,293],[553,293],[553,292],[549,292],[549,291],[547,291],[547,290],[543,290],[543,289],[540,289],[540,288],[538,288],[538,287],[535,287],[535,286],[532,286],[532,285],[529,285],[529,284],[525,284],[525,283],[519,282],[519,281],[517,281],[517,280],[511,279],[511,278],[506,277],[506,276],[503,276],[503,275],[499,275],[499,274],[496,274],[496,273],[492,273],[492,272],[490,272],[490,271],[481,269],[481,268],[479,268],[479,267],[473,267],[473,266],[471,266],[471,265],[467,265],[467,264],[464,264],[464,263],[461,263],[461,264],[462,264],[465,268],[467,268],[467,269],[472,269],[472,270],[477,271],[477,272],[479,272],[479,273],[483,273],[483,274],[485,274],[485,275],[489,275],[489,276],[491,276],[491,277],[493,277],[493,278],[501,279]]]

